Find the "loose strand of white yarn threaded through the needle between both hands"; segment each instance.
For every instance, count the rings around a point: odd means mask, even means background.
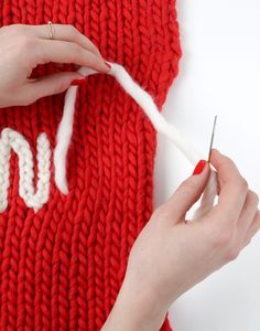
[[[113,76],[123,89],[137,102],[137,104],[141,106],[154,128],[159,132],[165,135],[194,166],[198,162],[198,160],[203,159],[202,154],[189,141],[186,140],[177,128],[164,119],[152,97],[131,78],[128,72],[119,64],[110,63],[110,65],[111,68],[107,74]],[[88,67],[80,67],[78,72],[84,76],[98,74],[98,72]],[[66,181],[66,156],[73,132],[76,93],[77,86],[69,87],[66,93],[64,114],[58,126],[56,148],[54,150],[55,183],[59,191],[64,194],[68,193]],[[216,173],[212,171],[210,179],[202,199],[201,207],[196,212],[195,217],[198,215],[205,215],[205,213],[210,210],[216,196]]]

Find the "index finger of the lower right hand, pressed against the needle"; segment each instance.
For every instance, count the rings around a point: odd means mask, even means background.
[[[248,184],[234,161],[217,150],[213,150],[210,162],[217,170],[219,199],[212,214],[226,222],[237,222],[248,193]]]

